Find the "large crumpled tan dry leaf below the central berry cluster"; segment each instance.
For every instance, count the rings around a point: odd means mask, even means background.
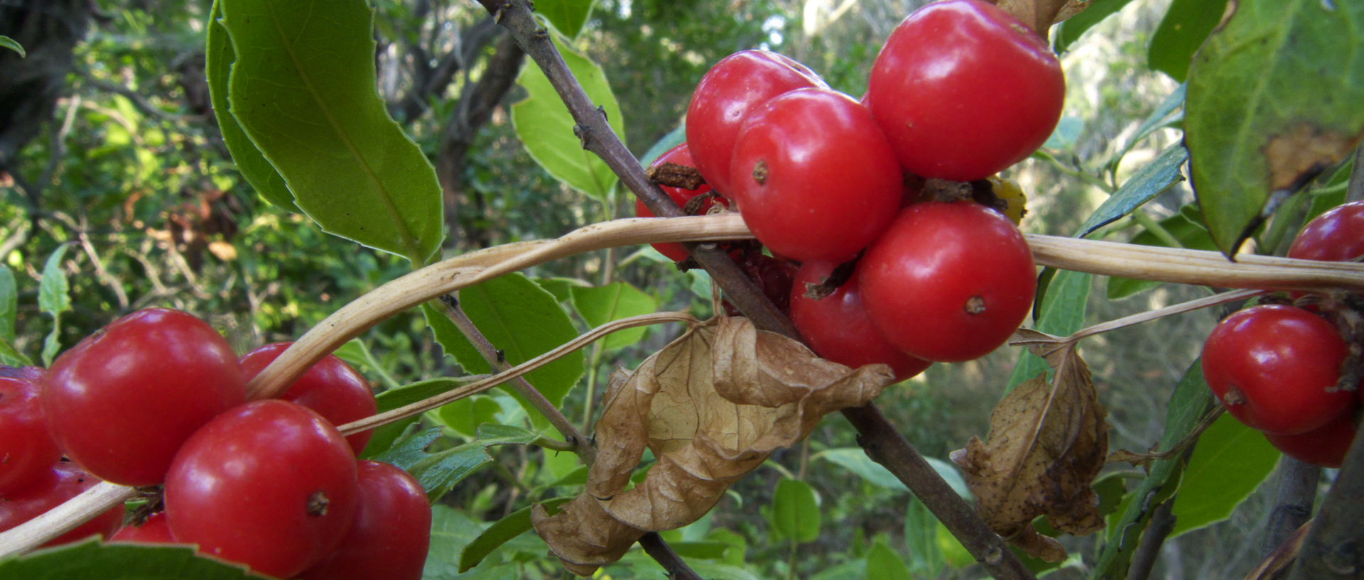
[[[592,573],[645,532],[701,519],[775,449],[893,381],[889,366],[850,369],[747,319],[712,319],[611,377],[587,490],[561,513],[537,509],[535,530],[572,572]],[[645,448],[657,463],[627,489]]]

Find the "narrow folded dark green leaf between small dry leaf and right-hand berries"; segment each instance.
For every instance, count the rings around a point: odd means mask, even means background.
[[[1165,433],[1161,436],[1158,449],[1173,449],[1178,445],[1211,407],[1213,392],[1203,381],[1203,368],[1195,361],[1170,395],[1170,404],[1165,411]],[[1127,579],[1132,554],[1151,520],[1151,513],[1174,494],[1183,474],[1183,456],[1153,462],[1146,478],[1123,498],[1114,515],[1109,517],[1103,547],[1090,572],[1091,580]]]

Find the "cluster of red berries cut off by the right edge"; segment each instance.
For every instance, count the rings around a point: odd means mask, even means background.
[[[1304,260],[1364,256],[1364,202],[1309,222],[1288,253]],[[1228,413],[1284,453],[1341,467],[1360,425],[1360,344],[1349,319],[1359,295],[1292,293],[1296,304],[1260,304],[1228,316],[1203,344],[1203,376]],[[1323,300],[1324,298],[1324,300]],[[1333,324],[1346,321],[1346,324]],[[1344,331],[1344,335],[1342,335]]]

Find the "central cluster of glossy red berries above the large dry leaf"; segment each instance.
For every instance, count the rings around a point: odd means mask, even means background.
[[[907,378],[993,351],[1027,315],[1031,252],[971,192],[1046,140],[1064,91],[1026,25],[945,0],[895,29],[861,101],[782,54],[726,57],[692,97],[686,143],[655,167],[694,166],[707,185],[664,188],[678,204],[732,204],[776,259],[801,264],[790,313],[820,355]]]

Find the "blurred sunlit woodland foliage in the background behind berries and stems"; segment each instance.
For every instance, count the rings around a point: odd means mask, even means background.
[[[510,103],[524,98],[513,80],[525,59],[481,7],[457,0],[372,4],[379,91],[436,166],[450,233],[446,255],[633,215],[627,192],[607,200],[588,197],[561,185],[525,154],[509,113]],[[735,50],[769,48],[791,54],[833,87],[861,95],[877,48],[919,4],[599,0],[570,44],[604,68],[625,117],[623,138],[644,155],[678,127],[707,68]],[[1138,125],[1178,87],[1147,65],[1147,45],[1169,1],[1125,4],[1063,54],[1069,82],[1067,118],[1065,129],[1048,146],[1050,161],[1027,161],[1008,173],[1030,196],[1026,231],[1073,234],[1105,199],[1105,181],[1121,184],[1180,139],[1177,129],[1162,129],[1121,155]],[[246,351],[296,338],[340,305],[406,271],[401,259],[357,248],[270,206],[236,172],[209,106],[207,11],[202,0],[0,3],[0,34],[29,52],[20,59],[0,50],[0,261],[18,279],[14,346],[19,351],[37,358],[49,332],[50,319],[38,310],[38,280],[59,246],[68,246],[60,265],[72,300],[72,310],[61,319],[63,347],[123,313],[173,306],[210,320]],[[1103,177],[1105,167],[1112,170],[1109,177]],[[1187,188],[1174,187],[1144,211],[1163,219],[1191,199]],[[1121,221],[1099,237],[1127,240],[1138,231],[1133,223]],[[694,283],[696,275],[678,272],[647,248],[584,255],[529,274],[573,285],[625,280],[656,297],[660,309],[692,309],[701,316],[711,310],[708,289]],[[1125,301],[1095,291],[1088,320],[1204,291],[1162,286]],[[1157,441],[1169,392],[1196,357],[1214,315],[1162,319],[1086,343],[1084,354],[1112,414],[1114,448],[1140,451]],[[582,320],[576,324],[587,327]],[[612,368],[633,366],[675,332],[652,329],[638,344],[593,351],[585,380],[599,384],[570,395],[569,417],[589,417],[584,392],[599,396]],[[352,350],[351,358],[376,384],[458,374],[419,315],[393,319],[361,340],[372,357]],[[922,377],[888,389],[878,404],[925,455],[945,459],[971,436],[983,434],[1016,358],[1016,351],[1003,349],[968,364],[934,365]],[[517,421],[514,404],[505,398],[488,400],[498,403],[499,419]],[[434,417],[428,422],[447,421]],[[449,432],[451,441],[469,434]],[[859,566],[873,558],[884,561],[885,554],[906,562],[914,577],[981,576],[908,493],[839,463],[850,462],[836,452],[846,448],[855,448],[854,432],[840,417],[831,417],[802,447],[773,455],[771,468],[735,485],[720,509],[668,538],[711,550],[698,560],[698,569],[712,566],[716,577],[861,577],[865,568]],[[498,468],[471,477],[442,501],[436,524],[446,532],[438,534],[436,547],[462,546],[460,532],[453,531],[458,526],[481,526],[531,500],[572,493],[573,479],[565,479],[573,472],[572,457],[566,463],[536,448],[498,449]],[[779,538],[762,517],[784,478],[810,485],[824,521],[818,539],[791,558],[790,539]],[[1255,496],[1229,523],[1170,542],[1153,577],[1244,573],[1251,560],[1210,547],[1252,546],[1248,538],[1266,505],[1267,500]],[[1095,539],[1068,542],[1086,554]],[[543,545],[521,547],[533,557],[505,555],[506,566],[498,569],[510,576],[477,577],[562,576],[540,557]],[[734,568],[716,568],[722,565]],[[1082,566],[1072,564],[1057,577],[1078,577]],[[607,572],[655,577],[659,570],[632,553]],[[475,576],[435,566],[428,568],[428,577]]]

